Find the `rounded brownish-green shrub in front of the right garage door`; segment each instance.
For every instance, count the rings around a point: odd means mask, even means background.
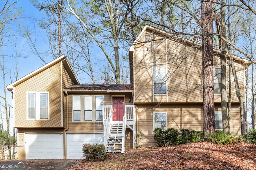
[[[103,160],[106,148],[104,144],[83,144],[83,157],[88,161]]]

